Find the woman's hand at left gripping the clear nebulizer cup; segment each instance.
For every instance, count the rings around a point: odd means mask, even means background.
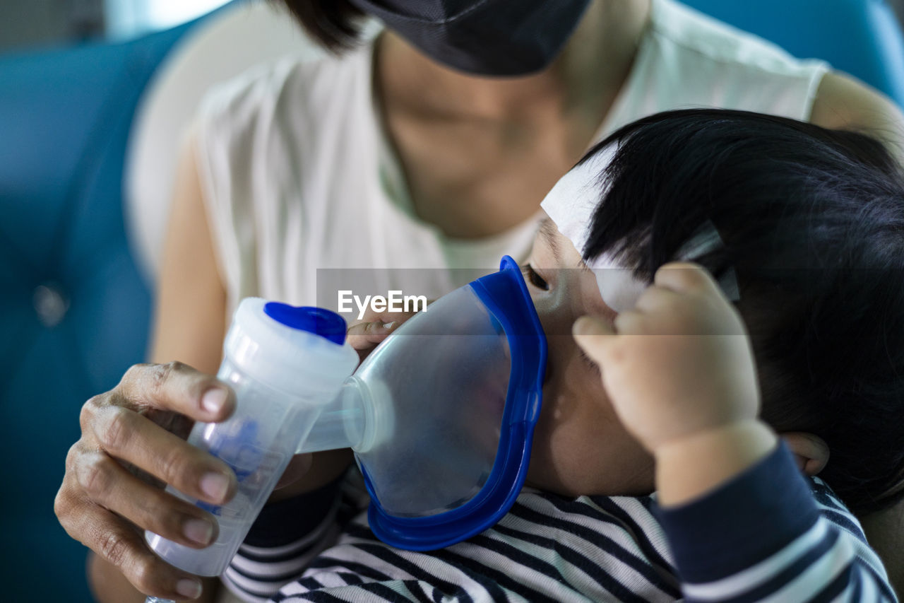
[[[162,485],[208,503],[231,499],[236,478],[229,466],[184,436],[193,421],[219,422],[234,408],[230,388],[179,362],[128,369],[116,388],[81,408],[81,437],[66,457],[54,502],[62,526],[141,592],[197,598],[201,581],[160,560],[143,531],[194,549],[215,540],[212,515]]]

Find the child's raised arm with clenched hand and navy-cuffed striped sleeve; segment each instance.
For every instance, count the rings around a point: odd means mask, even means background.
[[[669,264],[614,328],[584,318],[574,330],[622,422],[656,459],[687,598],[894,600],[884,571],[820,516],[758,420],[749,338],[708,273]]]

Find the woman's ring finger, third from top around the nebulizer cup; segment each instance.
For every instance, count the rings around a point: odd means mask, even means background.
[[[129,474],[102,452],[88,452],[77,462],[76,478],[92,503],[170,541],[200,549],[216,539],[210,513]]]

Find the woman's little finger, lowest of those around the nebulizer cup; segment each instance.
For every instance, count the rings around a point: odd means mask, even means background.
[[[147,548],[144,534],[126,520],[96,504],[84,502],[73,512],[76,525],[63,527],[120,572],[146,595],[184,599],[201,596],[201,580],[157,557]]]

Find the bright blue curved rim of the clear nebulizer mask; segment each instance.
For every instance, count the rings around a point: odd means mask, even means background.
[[[398,517],[386,512],[374,493],[370,477],[361,467],[364,484],[371,495],[367,513],[371,530],[381,541],[398,549],[442,549],[492,527],[509,512],[521,493],[531,461],[547,357],[540,317],[533,307],[521,267],[508,255],[503,257],[499,272],[466,286],[503,326],[509,344],[512,369],[499,446],[489,477],[471,500],[451,511],[427,517]]]

